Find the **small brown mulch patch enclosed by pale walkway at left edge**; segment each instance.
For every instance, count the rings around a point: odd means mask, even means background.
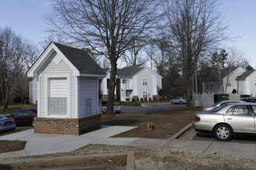
[[[0,141],[0,153],[24,150],[26,141]]]

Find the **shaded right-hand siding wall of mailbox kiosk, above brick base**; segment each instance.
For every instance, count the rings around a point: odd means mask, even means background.
[[[80,93],[79,95],[79,106],[80,106],[80,116],[86,117],[92,114],[97,113],[97,78],[92,77],[80,77]],[[86,102],[87,104],[92,101],[91,112],[88,113],[88,107],[85,108]]]

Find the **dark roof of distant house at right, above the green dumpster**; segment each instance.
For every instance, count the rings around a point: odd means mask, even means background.
[[[220,76],[221,79],[223,79],[225,76],[227,76],[229,73],[232,73],[234,70],[236,70],[238,68],[238,66],[234,66],[234,67],[230,67],[230,68],[225,68],[220,70]],[[207,75],[203,81],[207,82],[207,81],[219,81],[218,79],[218,71],[214,71],[213,73],[210,73],[209,75]]]

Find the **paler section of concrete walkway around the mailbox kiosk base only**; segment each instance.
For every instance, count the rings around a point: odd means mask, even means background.
[[[101,129],[88,132],[81,135],[63,135],[63,134],[34,134],[33,129],[20,131],[14,134],[1,136],[0,140],[19,140],[26,141],[26,147],[23,151],[12,151],[0,154],[1,158],[14,158],[31,155],[45,155],[59,152],[74,151],[89,144],[106,145],[126,145],[137,138],[114,138],[111,136],[130,131],[136,127],[124,126],[102,126]]]

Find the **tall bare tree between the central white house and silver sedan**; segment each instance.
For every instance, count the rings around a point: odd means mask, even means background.
[[[166,0],[171,39],[178,53],[182,76],[186,80],[187,106],[191,106],[192,74],[200,53],[220,43],[225,36],[219,1],[212,0]]]

